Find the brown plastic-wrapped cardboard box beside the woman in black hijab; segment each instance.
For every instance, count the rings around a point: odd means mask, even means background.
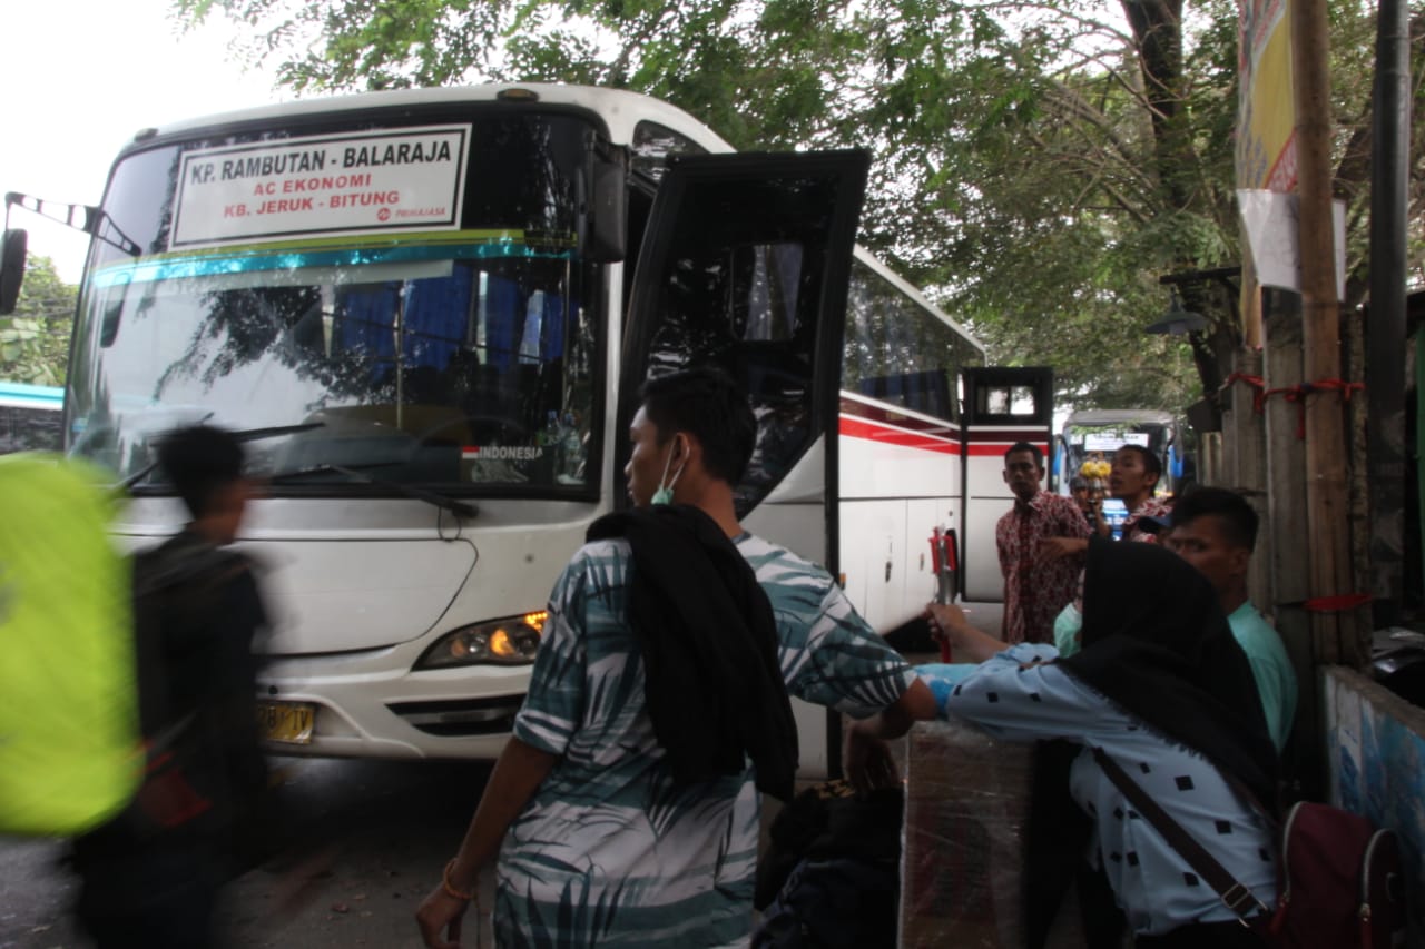
[[[958,721],[921,722],[905,747],[902,949],[1022,949],[1033,745]],[[1070,895],[1066,906],[1072,906]],[[1062,912],[1052,949],[1083,945]]]

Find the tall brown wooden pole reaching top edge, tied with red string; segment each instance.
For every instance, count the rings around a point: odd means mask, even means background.
[[[1292,0],[1302,372],[1310,383],[1341,378],[1341,316],[1331,215],[1327,36],[1325,0]],[[1305,395],[1307,537],[1311,551],[1311,593],[1317,597],[1354,590],[1341,399],[1342,393],[1335,389],[1314,389]],[[1357,643],[1357,623],[1351,614],[1312,613],[1311,627],[1320,664],[1364,664],[1365,657]]]

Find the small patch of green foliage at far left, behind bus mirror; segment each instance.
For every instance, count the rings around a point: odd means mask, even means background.
[[[64,385],[77,294],[50,258],[30,255],[16,311],[0,316],[0,379]]]

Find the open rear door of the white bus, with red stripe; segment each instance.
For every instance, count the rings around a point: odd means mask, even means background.
[[[965,369],[962,380],[965,530],[960,596],[999,601],[1005,598],[1005,577],[995,547],[995,524],[1015,503],[1005,483],[1005,452],[1016,442],[1039,446],[1045,456],[1045,477],[1049,477],[1054,373],[1047,366],[978,366]]]

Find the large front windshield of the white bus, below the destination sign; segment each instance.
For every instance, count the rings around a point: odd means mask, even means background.
[[[276,476],[275,490],[296,473],[306,474],[291,480],[302,492],[366,484],[353,470],[466,493],[597,487],[589,455],[600,427],[591,385],[600,271],[579,259],[570,207],[581,138],[553,134],[569,118],[502,121],[533,144],[512,157],[504,130],[499,150],[472,147],[463,219],[439,231],[208,239],[204,227],[218,225],[192,224],[167,170],[187,167],[184,150],[211,154],[211,141],[124,160],[105,209],[125,238],[164,249],[130,256],[95,242],[101,262],[91,261],[71,369],[70,450],[131,477],[180,425],[291,426],[249,446],[254,473]],[[476,123],[472,141],[496,124]],[[291,150],[304,140],[285,141]],[[473,174],[510,161],[523,170],[520,187]],[[162,194],[177,212],[124,215],[135,192],[154,191],[154,175],[170,182]],[[195,247],[172,239],[181,232]],[[161,477],[152,472],[135,487],[161,489]]]

